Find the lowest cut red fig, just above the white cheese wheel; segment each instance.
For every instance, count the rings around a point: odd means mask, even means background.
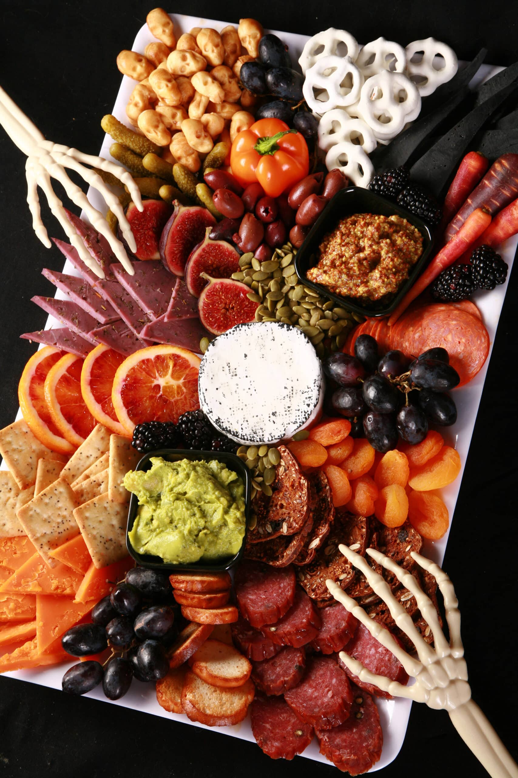
[[[250,287],[231,279],[211,279],[198,301],[198,313],[203,327],[214,335],[222,335],[236,324],[255,321],[259,303],[249,300]]]

